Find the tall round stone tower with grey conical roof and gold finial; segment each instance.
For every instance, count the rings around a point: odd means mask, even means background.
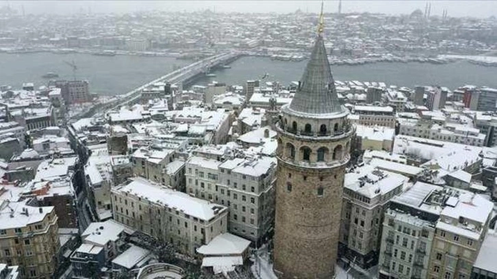
[[[277,123],[275,273],[279,278],[333,278],[345,167],[355,128],[340,105],[322,33],[289,105]]]

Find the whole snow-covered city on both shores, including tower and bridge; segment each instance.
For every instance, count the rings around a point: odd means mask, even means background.
[[[73,61],[0,81],[0,278],[496,278],[497,89],[333,77],[491,69],[494,18],[5,6],[0,26],[8,55],[191,60],[111,97]],[[251,55],[301,79],[197,83]]]

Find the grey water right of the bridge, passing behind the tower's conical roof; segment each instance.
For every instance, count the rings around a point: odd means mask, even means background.
[[[260,79],[268,72],[268,81],[288,85],[301,79],[307,62],[284,62],[265,57],[242,57],[231,63],[231,68],[214,72],[216,77],[203,77],[198,84],[210,81],[244,85],[247,80]],[[472,84],[497,88],[497,67],[486,67],[469,62],[449,64],[428,63],[375,63],[359,66],[332,65],[333,77],[338,81],[383,81],[387,85],[407,86],[440,85],[454,90]]]

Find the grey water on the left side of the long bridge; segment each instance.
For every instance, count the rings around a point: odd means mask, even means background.
[[[55,72],[58,79],[73,79],[73,70],[66,62],[77,66],[76,79],[90,82],[90,92],[102,95],[124,94],[157,79],[175,66],[192,63],[172,57],[143,57],[133,55],[98,56],[86,53],[0,53],[0,85],[21,88],[25,82],[36,87],[47,85],[42,75]]]

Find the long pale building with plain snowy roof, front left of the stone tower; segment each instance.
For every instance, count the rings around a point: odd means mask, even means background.
[[[196,248],[227,232],[228,209],[220,204],[130,178],[112,189],[114,220],[193,256]]]

